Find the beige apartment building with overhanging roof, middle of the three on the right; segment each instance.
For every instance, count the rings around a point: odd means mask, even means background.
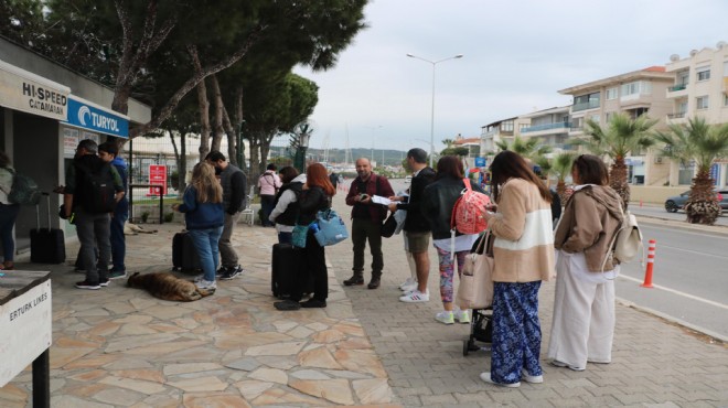
[[[559,94],[574,97],[568,136],[586,137],[584,126],[588,119],[604,127],[618,112],[632,118],[649,115],[660,120],[655,129],[665,128],[667,114],[673,111],[666,94],[674,83],[674,74],[664,66],[651,66],[561,89]],[[662,185],[670,180],[671,164],[651,151],[634,152],[627,159],[627,165],[633,184]]]

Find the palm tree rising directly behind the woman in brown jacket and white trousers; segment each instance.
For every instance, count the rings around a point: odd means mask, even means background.
[[[602,128],[595,120],[587,120],[585,133],[588,140],[575,140],[574,144],[584,144],[591,153],[607,155],[612,159],[609,169],[609,184],[622,197],[624,208],[630,202],[630,184],[627,180],[627,164],[624,159],[633,152],[654,144],[654,138],[650,130],[657,122],[646,115],[632,119],[627,114],[614,115]]]

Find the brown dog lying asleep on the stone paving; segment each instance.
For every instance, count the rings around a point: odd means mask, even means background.
[[[135,272],[127,280],[129,288],[146,289],[151,296],[162,300],[191,302],[215,293],[214,290],[200,289],[189,280],[180,279],[169,272],[141,275]]]

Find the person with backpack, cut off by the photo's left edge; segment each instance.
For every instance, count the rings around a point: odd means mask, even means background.
[[[6,152],[0,151],[0,240],[2,240],[2,270],[15,269],[15,240],[12,230],[18,219],[19,204],[8,200],[15,170]]]

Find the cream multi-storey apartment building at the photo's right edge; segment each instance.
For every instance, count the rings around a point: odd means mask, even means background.
[[[716,49],[693,50],[689,56],[672,55],[665,71],[674,76],[667,88],[671,104],[668,124],[686,124],[688,118],[703,117],[708,124],[728,122],[728,43]],[[671,185],[690,184],[695,169],[672,163]],[[728,160],[718,161],[711,169],[716,184],[728,185]]]

